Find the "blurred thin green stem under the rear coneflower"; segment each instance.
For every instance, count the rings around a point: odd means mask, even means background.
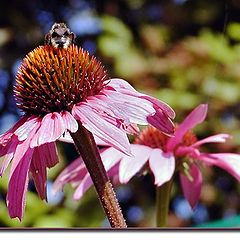
[[[157,227],[166,227],[172,189],[172,179],[156,188],[156,222]]]

